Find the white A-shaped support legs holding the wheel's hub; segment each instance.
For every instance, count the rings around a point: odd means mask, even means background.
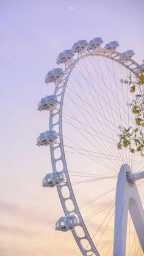
[[[120,168],[115,197],[114,256],[124,256],[126,254],[128,210],[144,251],[144,211],[135,185],[135,180],[143,178],[143,175],[144,172],[132,174],[128,164],[123,164]]]

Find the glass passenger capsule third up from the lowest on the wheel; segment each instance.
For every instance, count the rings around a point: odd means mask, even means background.
[[[40,146],[48,146],[56,143],[58,135],[56,131],[45,131],[45,133],[40,133],[40,136],[37,138],[37,145]]]

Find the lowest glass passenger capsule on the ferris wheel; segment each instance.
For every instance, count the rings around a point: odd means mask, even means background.
[[[79,220],[76,218],[76,216],[67,215],[65,217],[61,217],[56,222],[56,230],[66,232],[68,230],[73,230],[77,225],[79,225]]]

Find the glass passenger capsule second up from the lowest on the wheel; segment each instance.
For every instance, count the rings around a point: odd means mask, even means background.
[[[62,172],[52,172],[43,178],[42,186],[53,188],[54,186],[59,186],[64,180],[65,175]]]

